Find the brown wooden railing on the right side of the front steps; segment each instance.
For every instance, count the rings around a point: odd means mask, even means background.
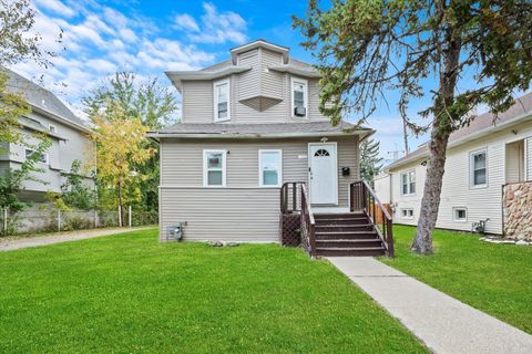
[[[393,257],[393,229],[392,218],[385,206],[380,202],[374,189],[365,181],[356,181],[349,185],[350,209],[351,211],[362,210],[366,212],[371,223],[375,226],[377,235],[382,240],[386,248],[386,254]],[[377,216],[381,218],[377,218]],[[382,225],[377,225],[376,220],[382,220]]]

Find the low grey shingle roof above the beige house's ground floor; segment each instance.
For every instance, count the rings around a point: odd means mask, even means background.
[[[219,136],[238,136],[238,135],[275,135],[275,134],[340,134],[350,132],[367,131],[369,128],[358,127],[347,122],[340,122],[337,126],[332,126],[329,122],[308,122],[308,123],[277,123],[277,124],[193,124],[181,123],[164,128],[160,134],[205,134]]]

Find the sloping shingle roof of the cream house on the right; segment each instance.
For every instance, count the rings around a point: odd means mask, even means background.
[[[514,104],[503,113],[495,116],[488,112],[477,116],[468,126],[464,126],[449,137],[448,148],[466,144],[473,138],[497,133],[508,126],[519,124],[523,119],[532,118],[532,92],[515,100]],[[427,143],[419,146],[416,150],[407,154],[397,162],[391,163],[385,169],[397,168],[419,158],[428,157],[429,152]]]

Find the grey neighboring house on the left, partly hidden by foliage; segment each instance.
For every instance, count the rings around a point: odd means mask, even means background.
[[[52,142],[52,146],[38,163],[43,173],[34,174],[34,177],[45,184],[25,180],[24,190],[19,198],[32,202],[47,201],[47,191],[61,191],[61,185],[71,171],[74,160],[80,160],[82,166],[93,163],[93,143],[89,138],[91,129],[50,91],[12,71],[7,72],[10,76],[8,90],[22,93],[32,111],[19,119],[24,140],[37,145],[39,142],[34,133],[42,133]],[[32,154],[32,150],[27,146],[3,144],[0,153],[0,173],[7,168],[20,168],[29,154]],[[85,183],[88,186],[94,186],[89,174],[85,176]]]

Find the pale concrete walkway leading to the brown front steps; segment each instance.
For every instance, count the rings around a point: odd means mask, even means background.
[[[434,353],[532,353],[532,335],[372,258],[328,260]]]

